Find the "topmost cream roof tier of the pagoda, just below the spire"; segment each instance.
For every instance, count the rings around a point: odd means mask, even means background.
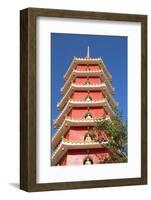
[[[109,80],[112,79],[112,75],[107,70],[102,58],[77,58],[77,57],[74,57],[66,74],[64,75],[65,81],[69,78],[70,73],[76,67],[77,64],[98,64],[99,67],[103,69],[103,71],[106,74],[106,76],[108,77],[108,79]]]

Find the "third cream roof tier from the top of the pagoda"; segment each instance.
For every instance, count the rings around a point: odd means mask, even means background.
[[[64,105],[67,103],[69,100],[70,96],[72,95],[73,91],[99,91],[102,90],[104,93],[105,97],[109,98],[109,103],[113,108],[117,107],[117,102],[114,100],[112,95],[110,94],[110,91],[106,85],[106,83],[100,83],[100,84],[75,84],[72,83],[66,92],[66,94],[63,96],[61,101],[57,104],[57,107],[62,109]]]

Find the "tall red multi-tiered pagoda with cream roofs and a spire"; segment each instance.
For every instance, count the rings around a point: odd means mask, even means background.
[[[97,140],[91,132],[98,121],[115,117],[111,80],[103,60],[90,57],[89,47],[85,58],[73,58],[57,105],[60,114],[54,120],[52,166],[101,164],[110,158],[104,147],[107,134],[102,131]]]

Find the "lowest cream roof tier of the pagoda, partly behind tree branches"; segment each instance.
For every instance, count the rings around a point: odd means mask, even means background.
[[[106,142],[75,142],[75,141],[67,141],[62,140],[56,150],[52,154],[51,164],[56,165],[59,160],[65,155],[65,153],[70,149],[100,149],[104,148],[103,144]]]

